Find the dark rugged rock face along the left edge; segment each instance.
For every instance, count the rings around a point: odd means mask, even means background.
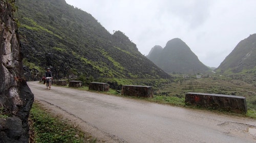
[[[29,112],[34,101],[26,81],[13,18],[14,2],[0,1],[0,142],[29,142]]]

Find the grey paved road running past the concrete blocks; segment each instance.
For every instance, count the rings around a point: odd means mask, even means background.
[[[123,142],[256,142],[256,122],[215,113],[28,82],[46,101]]]

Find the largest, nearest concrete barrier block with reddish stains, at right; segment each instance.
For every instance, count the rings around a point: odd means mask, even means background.
[[[214,109],[224,109],[237,113],[247,113],[245,97],[222,94],[187,93],[186,105],[199,105]]]

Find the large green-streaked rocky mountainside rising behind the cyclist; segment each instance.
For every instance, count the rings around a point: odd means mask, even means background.
[[[64,0],[17,0],[24,65],[54,78],[169,78],[122,32],[110,34]],[[39,72],[39,73],[37,73]]]

